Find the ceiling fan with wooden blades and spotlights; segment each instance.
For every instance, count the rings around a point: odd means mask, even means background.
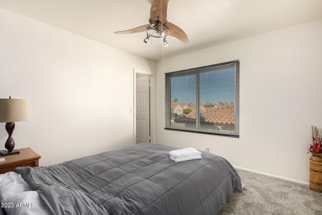
[[[142,25],[126,31],[117,31],[115,34],[133,34],[146,31],[146,38],[143,40],[145,43],[150,37],[163,38],[164,45],[167,46],[168,42],[166,37],[173,36],[181,40],[184,44],[189,43],[187,34],[178,26],[168,22],[167,9],[171,0],[154,0],[150,9],[150,19],[147,25]]]

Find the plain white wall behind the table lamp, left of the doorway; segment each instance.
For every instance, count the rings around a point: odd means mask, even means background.
[[[46,166],[133,144],[133,68],[155,62],[0,10],[0,98],[29,100],[16,149]],[[0,123],[0,149],[8,135]]]

